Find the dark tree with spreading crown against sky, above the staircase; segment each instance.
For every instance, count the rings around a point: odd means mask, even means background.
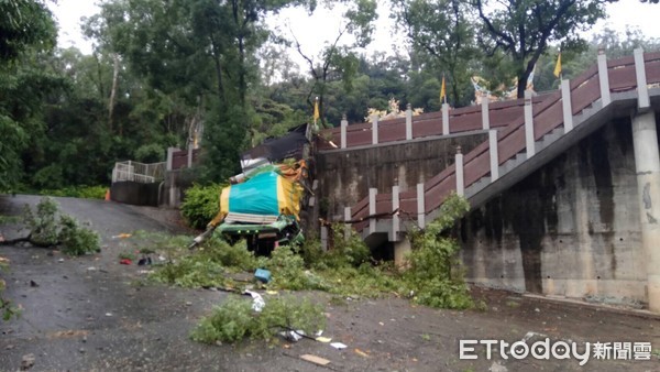
[[[518,78],[518,98],[527,78],[549,43],[562,50],[584,50],[580,32],[605,17],[607,0],[471,0],[482,21],[481,44],[490,55],[498,51],[512,58]]]

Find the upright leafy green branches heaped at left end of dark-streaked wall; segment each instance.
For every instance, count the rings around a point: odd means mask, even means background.
[[[452,194],[440,207],[440,217],[426,231],[411,237],[413,252],[404,280],[415,294],[414,302],[444,308],[473,306],[457,259],[460,247],[454,239],[443,236],[468,210],[468,201]]]

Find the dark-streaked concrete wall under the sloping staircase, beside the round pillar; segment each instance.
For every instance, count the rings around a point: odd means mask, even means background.
[[[610,122],[461,222],[472,282],[569,297],[646,298],[632,132]]]

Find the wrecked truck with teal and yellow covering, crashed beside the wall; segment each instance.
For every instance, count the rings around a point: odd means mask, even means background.
[[[250,171],[220,193],[220,211],[207,232],[235,243],[245,240],[248,249],[270,255],[279,244],[301,243],[300,203],[305,160],[268,164]],[[202,236],[200,236],[202,237]],[[204,238],[196,238],[200,242]]]

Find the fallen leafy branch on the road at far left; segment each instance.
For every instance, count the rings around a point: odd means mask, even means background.
[[[78,221],[59,212],[59,207],[50,197],[43,197],[36,211],[25,205],[23,222],[30,230],[30,242],[40,247],[63,245],[63,252],[81,255],[99,251],[99,236],[96,231],[80,227]]]

